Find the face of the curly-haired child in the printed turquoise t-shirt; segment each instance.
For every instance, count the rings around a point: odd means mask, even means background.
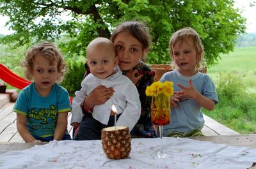
[[[33,78],[35,80],[36,90],[41,94],[51,92],[52,85],[58,78],[57,62],[51,62],[42,55],[36,55],[33,62]]]

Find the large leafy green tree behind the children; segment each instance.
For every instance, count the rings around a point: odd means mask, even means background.
[[[68,13],[65,21],[61,14]],[[0,0],[0,14],[14,34],[3,43],[17,45],[40,40],[72,39],[60,44],[65,54],[85,55],[86,45],[97,36],[109,38],[124,20],[143,20],[151,29],[149,63],[170,62],[168,42],[173,32],[190,26],[201,36],[208,65],[234,49],[237,35],[245,31],[245,18],[233,0]]]

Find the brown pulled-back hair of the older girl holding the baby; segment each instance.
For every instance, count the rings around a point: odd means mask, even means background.
[[[136,38],[142,44],[142,49],[150,47],[151,38],[149,34],[149,28],[146,24],[138,21],[127,21],[119,24],[113,31],[110,40],[115,41],[116,36],[124,31],[129,32],[134,38]],[[145,58],[143,58],[145,59]]]

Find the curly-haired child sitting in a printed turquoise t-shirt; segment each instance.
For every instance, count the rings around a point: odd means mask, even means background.
[[[21,65],[34,82],[20,91],[13,107],[20,136],[30,143],[71,140],[65,133],[71,110],[68,92],[56,84],[66,68],[60,51],[52,43],[39,43],[28,50]]]

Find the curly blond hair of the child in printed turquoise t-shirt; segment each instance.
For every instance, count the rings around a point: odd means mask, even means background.
[[[25,68],[25,76],[28,80],[33,80],[33,64],[37,55],[44,56],[51,62],[57,62],[58,78],[57,82],[62,82],[64,73],[67,71],[67,64],[63,59],[63,55],[60,50],[56,48],[53,43],[43,42],[29,48],[26,51],[25,59],[20,62],[20,65]]]

